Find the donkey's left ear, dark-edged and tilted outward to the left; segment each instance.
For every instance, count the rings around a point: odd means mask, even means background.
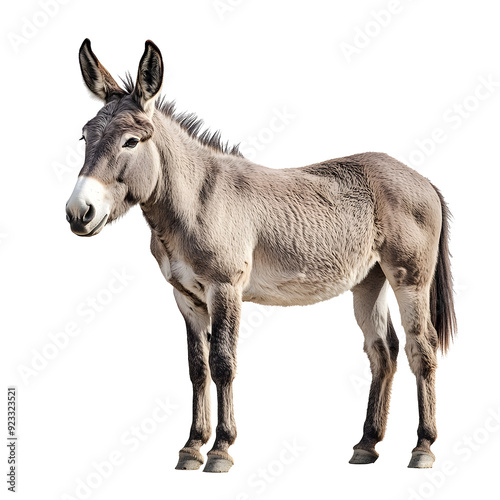
[[[90,91],[103,101],[108,102],[113,95],[125,94],[106,68],[99,62],[86,38],[80,47],[80,68]]]

